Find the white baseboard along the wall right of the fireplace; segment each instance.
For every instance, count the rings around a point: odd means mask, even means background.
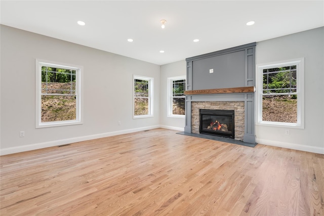
[[[324,148],[315,147],[315,146],[306,146],[306,145],[300,145],[294,143],[277,142],[277,141],[263,140],[263,139],[257,139],[257,143],[262,145],[267,145],[267,146],[276,146],[276,147],[281,147],[286,149],[295,149],[300,151],[324,154]]]

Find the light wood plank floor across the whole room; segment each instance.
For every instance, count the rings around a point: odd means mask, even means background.
[[[153,129],[1,157],[1,215],[323,215],[324,155]]]

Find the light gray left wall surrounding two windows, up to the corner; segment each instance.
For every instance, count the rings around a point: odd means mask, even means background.
[[[35,128],[35,58],[84,67],[84,124]],[[2,25],[2,154],[159,127],[159,71],[159,65]],[[154,78],[154,117],[133,119],[133,74]]]

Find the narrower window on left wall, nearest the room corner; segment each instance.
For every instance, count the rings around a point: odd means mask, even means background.
[[[153,78],[134,75],[134,118],[153,116]]]

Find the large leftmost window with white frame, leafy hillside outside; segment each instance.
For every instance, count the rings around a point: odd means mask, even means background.
[[[36,59],[36,127],[82,123],[81,66]]]

